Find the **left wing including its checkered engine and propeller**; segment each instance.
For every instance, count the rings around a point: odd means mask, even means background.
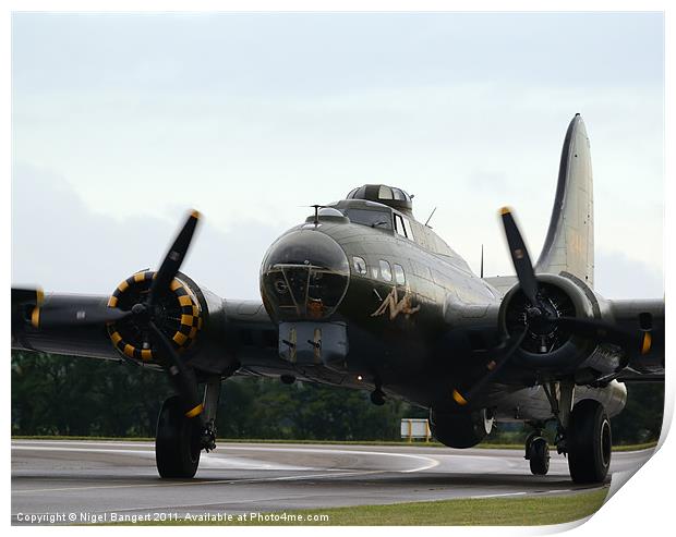
[[[109,296],[13,288],[12,349],[161,368],[192,408],[201,379],[289,371],[259,301],[225,301],[180,272],[200,219],[191,211],[158,269],[132,274]]]

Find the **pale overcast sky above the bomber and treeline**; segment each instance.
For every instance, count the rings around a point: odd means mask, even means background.
[[[40,14],[12,24],[12,280],[109,293],[155,267],[258,297],[302,208],[383,182],[486,273],[497,209],[538,257],[564,134],[591,138],[596,289],[662,296],[662,15]]]

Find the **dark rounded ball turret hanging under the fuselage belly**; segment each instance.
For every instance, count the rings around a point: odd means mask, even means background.
[[[439,442],[449,448],[472,448],[493,429],[493,416],[485,408],[461,414],[430,410],[430,431]]]

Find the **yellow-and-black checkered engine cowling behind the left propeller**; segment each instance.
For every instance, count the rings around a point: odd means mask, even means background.
[[[146,270],[124,280],[110,296],[108,306],[129,312],[134,304],[145,302],[155,273]],[[202,329],[202,308],[193,290],[180,277],[173,279],[170,290],[154,300],[157,304],[153,309],[153,320],[177,351],[183,352],[194,344]],[[108,334],[116,349],[129,358],[152,362],[157,357],[149,334],[134,322],[133,317],[108,325]]]

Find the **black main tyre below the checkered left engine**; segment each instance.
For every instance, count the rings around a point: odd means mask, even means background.
[[[157,419],[155,462],[162,478],[190,479],[200,465],[200,420],[185,417],[181,398],[164,402]]]

